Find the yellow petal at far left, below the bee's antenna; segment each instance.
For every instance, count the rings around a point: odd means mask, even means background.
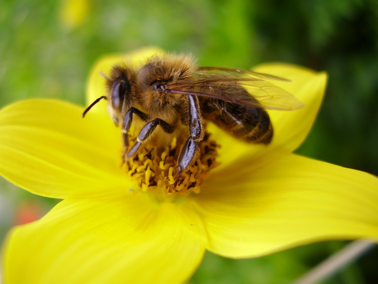
[[[66,198],[124,192],[120,138],[110,119],[83,109],[26,100],[0,111],[0,173],[33,193]]]

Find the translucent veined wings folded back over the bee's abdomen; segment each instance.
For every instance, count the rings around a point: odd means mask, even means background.
[[[304,106],[301,101],[289,92],[265,79],[290,81],[274,75],[253,71],[199,67],[194,78],[169,83],[167,84],[166,91],[216,98],[238,105],[254,106],[257,108],[294,110]],[[247,92],[241,93],[240,85]]]

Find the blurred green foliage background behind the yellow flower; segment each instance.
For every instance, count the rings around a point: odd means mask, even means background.
[[[297,153],[378,175],[378,1],[75,3],[0,1],[0,107],[33,97],[84,105],[86,78],[99,56],[146,45],[192,53],[202,65],[293,62],[329,74],[324,105]],[[0,187],[0,239],[21,201],[44,211],[56,203],[4,180]],[[317,243],[239,261],[207,253],[190,283],[288,283],[342,245]],[[375,249],[326,283],[376,283],[377,256]]]

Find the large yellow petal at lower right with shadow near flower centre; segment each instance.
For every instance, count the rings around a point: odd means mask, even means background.
[[[288,154],[260,169],[211,175],[195,210],[208,249],[255,257],[331,239],[378,240],[378,178]]]

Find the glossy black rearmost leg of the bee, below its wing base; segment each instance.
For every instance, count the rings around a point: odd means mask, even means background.
[[[177,160],[177,172],[180,174],[193,162],[197,153],[198,143],[204,137],[202,116],[198,98],[192,95],[187,96],[187,118],[186,124],[189,125],[190,137],[186,140],[181,149]]]

